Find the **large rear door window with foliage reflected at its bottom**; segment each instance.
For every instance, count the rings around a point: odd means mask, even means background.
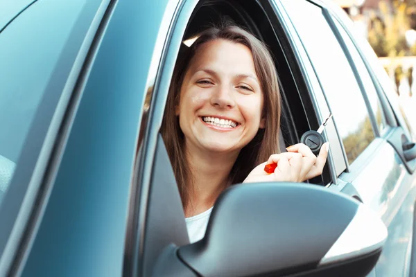
[[[322,84],[347,159],[352,163],[374,140],[370,116],[352,68],[322,8],[303,0],[282,2]]]

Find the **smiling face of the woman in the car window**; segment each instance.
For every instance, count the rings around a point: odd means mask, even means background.
[[[264,127],[263,92],[250,49],[216,39],[193,56],[176,115],[188,149],[239,152]]]

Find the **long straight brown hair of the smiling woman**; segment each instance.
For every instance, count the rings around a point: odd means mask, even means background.
[[[180,129],[179,119],[175,116],[175,107],[179,104],[180,88],[193,55],[195,55],[197,49],[202,44],[215,39],[225,39],[250,48],[254,60],[254,69],[259,78],[264,97],[263,116],[266,118],[265,128],[259,129],[254,139],[240,151],[239,157],[229,173],[230,184],[241,183],[255,166],[267,161],[270,154],[279,153],[279,83],[277,81],[275,63],[267,46],[246,30],[229,23],[207,28],[200,33],[200,36],[191,47],[185,48],[186,46],[184,46],[181,49],[182,53],[180,53],[173,71],[161,128],[162,137],[171,159],[184,208],[187,207],[190,201],[190,194],[193,191],[193,179],[187,165],[187,158],[184,152],[184,134]]]

